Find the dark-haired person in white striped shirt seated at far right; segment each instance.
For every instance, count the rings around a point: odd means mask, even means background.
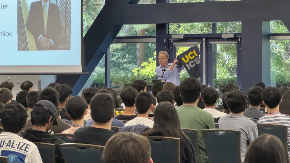
[[[288,126],[288,155],[290,157],[290,118],[281,114],[279,103],[281,102],[281,91],[276,87],[267,87],[262,92],[263,104],[268,109],[268,114],[258,120],[258,124],[279,124]]]

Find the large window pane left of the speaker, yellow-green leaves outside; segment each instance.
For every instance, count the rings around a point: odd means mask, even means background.
[[[156,43],[127,43],[110,46],[111,87],[119,94],[128,84],[156,76]],[[147,80],[152,84],[152,79]]]

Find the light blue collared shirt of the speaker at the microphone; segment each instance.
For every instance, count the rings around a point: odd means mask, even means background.
[[[184,66],[182,65],[181,68],[177,68],[176,66],[174,66],[173,70],[170,71],[169,68],[171,66],[172,63],[168,63],[167,64],[167,67],[162,67],[161,65],[160,66],[157,66],[155,68],[155,72],[156,72],[156,75],[162,75],[162,69],[165,68],[166,71],[164,72],[164,75],[163,75],[163,78],[162,80],[166,80],[166,82],[172,82],[174,83],[176,86],[180,85],[180,75],[179,73],[183,70]],[[161,80],[161,76],[158,77],[159,80]]]

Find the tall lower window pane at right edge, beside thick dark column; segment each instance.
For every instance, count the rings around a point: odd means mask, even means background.
[[[271,86],[290,83],[290,40],[271,40]]]

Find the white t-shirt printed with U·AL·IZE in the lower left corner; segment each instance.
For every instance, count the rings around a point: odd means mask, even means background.
[[[37,146],[17,134],[0,134],[0,156],[8,157],[8,162],[42,163]]]

